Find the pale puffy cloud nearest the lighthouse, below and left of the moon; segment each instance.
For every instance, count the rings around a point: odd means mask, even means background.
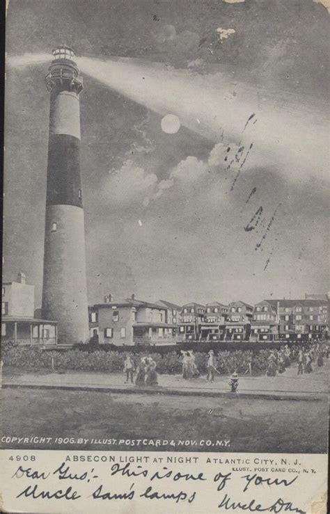
[[[155,173],[146,172],[143,168],[135,166],[132,160],[124,161],[120,170],[111,170],[109,178],[104,188],[106,194],[109,193],[111,202],[132,202],[140,195],[152,191],[157,183]]]

